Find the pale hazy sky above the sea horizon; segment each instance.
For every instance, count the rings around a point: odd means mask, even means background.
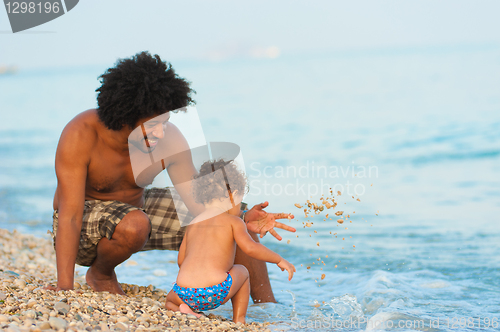
[[[497,46],[500,2],[85,0],[13,34],[0,9],[0,66],[112,64],[143,50],[226,61],[324,52]]]

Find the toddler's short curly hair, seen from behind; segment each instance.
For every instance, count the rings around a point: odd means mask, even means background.
[[[220,172],[217,172],[221,170]],[[247,192],[247,178],[232,160],[206,161],[193,177],[193,194],[196,203],[206,204],[214,199],[228,198],[229,193]]]

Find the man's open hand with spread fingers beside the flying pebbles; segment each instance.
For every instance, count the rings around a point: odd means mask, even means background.
[[[289,232],[295,232],[296,229],[277,222],[276,219],[293,219],[294,216],[290,213],[267,213],[264,209],[268,205],[269,202],[264,202],[262,204],[257,204],[252,209],[248,210],[245,215],[245,219],[247,220],[247,229],[260,234],[261,238],[269,232],[272,236],[281,241],[282,238],[278,233],[276,233],[274,227],[281,228]]]

